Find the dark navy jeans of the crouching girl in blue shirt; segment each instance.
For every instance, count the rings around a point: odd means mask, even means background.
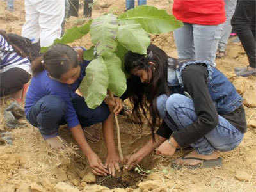
[[[77,95],[72,103],[82,127],[104,122],[110,114],[104,102],[99,107],[90,109],[84,98]],[[60,97],[47,95],[31,107],[26,117],[33,126],[39,128],[43,138],[47,139],[57,136],[59,125],[66,124],[66,111],[67,105]]]

